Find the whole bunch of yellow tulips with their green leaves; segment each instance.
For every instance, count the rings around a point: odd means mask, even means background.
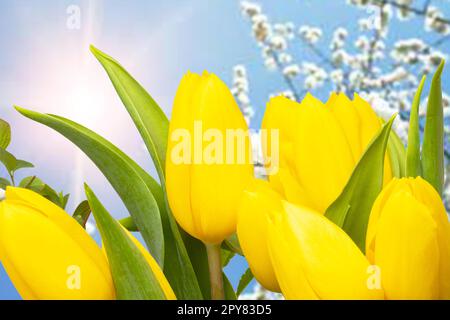
[[[246,122],[217,76],[187,73],[169,122],[117,61],[91,51],[158,179],[82,125],[16,106],[78,146],[130,214],[114,219],[86,185],[87,201],[71,217],[64,195],[3,179],[0,260],[23,298],[236,299],[253,278],[286,299],[450,298],[443,62],[423,137],[425,78],[416,92],[407,147],[391,130],[395,115],[384,121],[356,94],[270,99],[261,127],[267,174],[255,177]],[[8,155],[0,150],[5,166]],[[84,229],[91,212],[101,246]],[[237,290],[223,273],[234,255],[249,264]]]

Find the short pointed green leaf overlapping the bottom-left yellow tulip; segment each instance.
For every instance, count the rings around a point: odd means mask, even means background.
[[[117,298],[165,300],[156,276],[138,247],[87,185],[85,191],[106,249]]]

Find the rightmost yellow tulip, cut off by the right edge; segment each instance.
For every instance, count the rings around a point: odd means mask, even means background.
[[[450,299],[450,224],[422,178],[393,179],[377,197],[366,254],[388,299]]]

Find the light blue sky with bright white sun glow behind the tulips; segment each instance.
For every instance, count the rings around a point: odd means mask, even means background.
[[[274,21],[321,26],[327,39],[339,25],[355,26],[363,14],[349,8],[344,0],[260,3]],[[81,8],[80,30],[66,27],[66,9],[73,4]],[[399,25],[395,32],[415,35],[405,25]],[[69,210],[82,200],[82,183],[86,181],[116,217],[127,215],[89,159],[57,133],[18,115],[13,104],[78,121],[154,173],[132,121],[89,53],[90,43],[119,60],[169,116],[178,82],[187,70],[206,69],[230,83],[233,66],[245,64],[257,111],[254,127],[269,93],[283,88],[281,78],[262,65],[238,1],[1,1],[0,117],[13,128],[11,151],[35,164],[36,169],[24,175],[38,173],[55,189],[72,194]],[[448,51],[448,46],[445,49]],[[235,285],[245,268],[242,259],[228,267]],[[18,295],[0,267],[0,299],[14,298]]]

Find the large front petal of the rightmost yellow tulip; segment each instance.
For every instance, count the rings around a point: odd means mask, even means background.
[[[375,264],[388,299],[439,297],[439,248],[436,223],[410,193],[387,200],[375,238]]]

